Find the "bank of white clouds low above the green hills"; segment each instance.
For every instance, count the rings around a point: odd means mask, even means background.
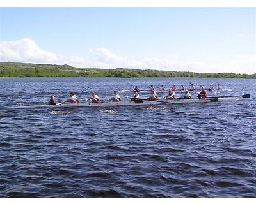
[[[31,62],[49,64],[70,64],[77,67],[96,68],[141,68],[168,71],[193,72],[233,72],[254,73],[255,55],[209,56],[198,61],[184,61],[175,54],[161,57],[129,59],[117,55],[107,48],[93,48],[90,52],[97,56],[96,61],[87,61],[84,57],[64,56],[47,52],[39,48],[35,41],[24,38],[17,41],[0,41],[0,61]]]

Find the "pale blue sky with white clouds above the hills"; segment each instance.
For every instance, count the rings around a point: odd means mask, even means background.
[[[0,61],[256,72],[255,8],[0,8]]]

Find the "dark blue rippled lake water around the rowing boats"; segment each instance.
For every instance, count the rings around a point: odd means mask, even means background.
[[[220,103],[8,110],[76,92],[221,84]],[[141,96],[147,97],[147,94]],[[193,95],[195,96],[195,94]],[[1,197],[255,197],[256,80],[1,78]],[[254,98],[254,99],[253,99]]]

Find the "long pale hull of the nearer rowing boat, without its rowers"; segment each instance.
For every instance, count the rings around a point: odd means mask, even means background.
[[[79,108],[79,107],[103,107],[103,106],[143,106],[143,105],[163,105],[163,104],[183,104],[183,103],[212,103],[219,101],[237,101],[243,98],[250,98],[250,94],[241,96],[218,96],[205,99],[173,99],[168,101],[150,101],[148,99],[137,99],[131,101],[100,101],[99,103],[64,103],[61,105],[35,105],[35,106],[16,106],[11,108]]]

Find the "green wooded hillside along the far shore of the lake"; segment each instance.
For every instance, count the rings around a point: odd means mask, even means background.
[[[0,62],[0,77],[120,77],[120,78],[256,78],[256,73],[195,73],[151,69],[75,68],[67,64],[27,64]]]

